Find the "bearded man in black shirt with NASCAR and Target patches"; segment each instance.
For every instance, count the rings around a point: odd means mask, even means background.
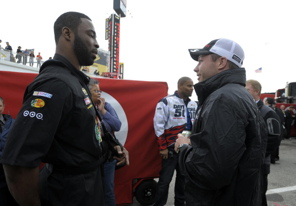
[[[129,158],[109,138],[92,104],[89,77],[80,71],[96,59],[96,32],[85,14],[66,12],[55,21],[54,33],[55,56],[28,85],[0,163],[20,205],[105,205],[108,150],[123,164]],[[46,166],[39,172],[40,162]]]

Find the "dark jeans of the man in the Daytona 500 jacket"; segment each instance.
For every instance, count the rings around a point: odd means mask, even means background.
[[[155,206],[163,206],[167,203],[169,186],[176,170],[175,180],[175,206],[185,206],[185,177],[181,175],[179,169],[179,155],[174,149],[169,149],[173,152],[169,154],[168,159],[162,159],[161,170],[159,172],[159,180],[155,194]]]

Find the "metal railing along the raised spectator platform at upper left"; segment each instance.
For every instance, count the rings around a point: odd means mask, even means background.
[[[0,59],[37,68],[40,68],[41,64],[44,62],[44,60],[39,60],[36,57],[33,58],[29,55],[20,54],[5,49],[0,49]]]

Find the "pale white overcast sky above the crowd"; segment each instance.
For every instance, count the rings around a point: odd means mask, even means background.
[[[296,81],[295,4],[285,0],[127,0],[127,16],[120,25],[124,78],[165,81],[172,94],[182,76],[198,82],[193,72],[197,62],[188,49],[227,38],[245,51],[247,79],[258,80],[262,92],[282,89],[287,81]],[[108,49],[105,19],[115,13],[113,0],[6,0],[0,6],[2,47],[8,41],[13,51],[18,46],[34,48],[46,60],[55,53],[55,20],[64,12],[77,11],[92,19],[100,47]],[[255,73],[260,67],[262,73]],[[192,99],[197,101],[196,95]]]

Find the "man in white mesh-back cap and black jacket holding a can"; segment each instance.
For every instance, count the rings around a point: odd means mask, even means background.
[[[259,206],[266,126],[245,89],[244,51],[232,40],[216,39],[189,53],[199,62],[199,106],[190,139],[178,134],[175,144],[186,204]]]

